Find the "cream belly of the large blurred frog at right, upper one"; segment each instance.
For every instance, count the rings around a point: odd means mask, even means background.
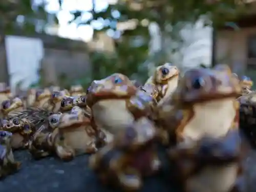
[[[216,100],[194,105],[194,117],[183,130],[183,137],[199,140],[203,136],[225,136],[236,116],[233,101]]]

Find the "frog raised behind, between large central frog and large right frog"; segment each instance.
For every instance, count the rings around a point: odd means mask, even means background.
[[[146,84],[154,84],[158,90],[157,101],[164,100],[175,91],[179,80],[179,70],[170,63],[165,63],[156,68],[153,76],[148,78]],[[161,103],[160,102],[160,103]]]

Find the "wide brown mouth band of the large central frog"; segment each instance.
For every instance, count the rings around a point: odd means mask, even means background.
[[[90,92],[87,95],[86,103],[89,106],[89,108],[92,108],[92,106],[101,101],[101,100],[107,100],[107,99],[130,99],[132,96],[136,95],[137,88],[136,87],[126,87],[126,90],[124,91],[117,91],[117,90],[102,90],[97,92]]]

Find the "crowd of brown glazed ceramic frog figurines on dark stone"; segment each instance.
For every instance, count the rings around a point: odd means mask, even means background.
[[[183,191],[240,191],[241,94],[241,81],[227,66],[190,69],[179,77],[169,63],[141,87],[115,73],[94,80],[86,95],[41,92],[39,108],[3,121],[0,176],[19,167],[11,150],[17,146],[28,147],[37,159],[90,153],[90,167],[103,183],[134,191],[163,168],[161,146],[177,169],[170,178]],[[23,131],[14,131],[17,126]]]

